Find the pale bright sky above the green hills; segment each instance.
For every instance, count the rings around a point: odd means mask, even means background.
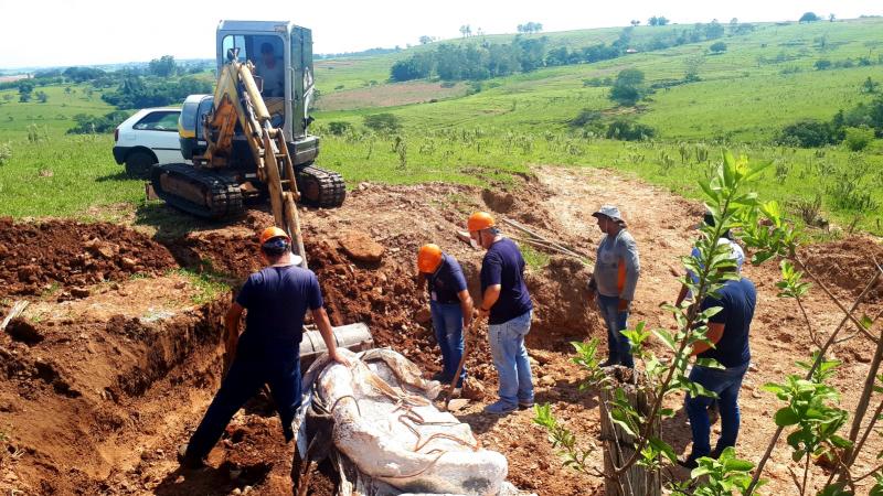
[[[664,15],[671,22],[797,20],[804,12],[838,19],[883,14],[881,0],[0,0],[0,68],[146,62],[214,56],[221,19],[290,20],[313,32],[313,52],[355,52],[449,39],[459,28],[513,33],[627,25]]]

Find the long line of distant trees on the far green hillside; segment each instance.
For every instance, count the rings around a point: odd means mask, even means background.
[[[542,28],[542,24],[540,24]],[[651,36],[642,43],[632,39],[635,26],[625,28],[610,43],[597,43],[579,48],[550,47],[546,36],[529,37],[515,35],[511,43],[443,43],[435,50],[415,53],[396,62],[390,68],[390,79],[405,82],[438,77],[443,80],[480,80],[508,76],[518,72],[530,72],[540,67],[571,64],[591,64],[626,55],[631,50],[647,52],[664,50],[687,43],[698,43],[724,36],[726,29],[713,20],[691,28],[673,29]],[[731,34],[745,34],[754,30],[753,24],[732,23]],[[523,25],[522,25],[523,31]],[[716,45],[716,53],[726,45]]]

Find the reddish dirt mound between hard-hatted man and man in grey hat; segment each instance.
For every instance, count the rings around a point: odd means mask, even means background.
[[[526,274],[534,301],[534,323],[528,346],[570,352],[571,341],[600,335],[603,327],[589,310],[588,268],[579,260],[555,256],[539,273]]]

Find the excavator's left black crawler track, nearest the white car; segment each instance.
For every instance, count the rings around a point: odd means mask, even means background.
[[[157,196],[188,214],[221,219],[243,212],[240,184],[227,174],[169,163],[155,165],[150,180]]]

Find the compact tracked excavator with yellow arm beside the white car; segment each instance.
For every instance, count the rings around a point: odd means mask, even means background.
[[[155,165],[153,192],[210,219],[236,216],[245,202],[269,196],[276,225],[306,267],[296,204],[337,207],[347,194],[340,174],[315,164],[312,33],[291,22],[221,21],[216,58],[214,95],[187,97],[178,122],[191,163]]]

